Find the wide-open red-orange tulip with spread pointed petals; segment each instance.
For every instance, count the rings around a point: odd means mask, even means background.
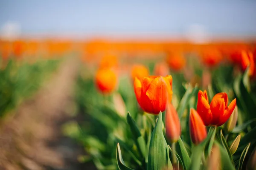
[[[233,99],[229,106],[227,104],[226,93],[216,94],[209,104],[207,92],[198,92],[197,111],[206,126],[221,126],[227,122],[236,107],[236,99]]]

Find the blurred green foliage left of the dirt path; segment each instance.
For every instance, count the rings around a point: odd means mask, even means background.
[[[30,64],[13,59],[0,63],[0,117],[37,91],[58,63],[59,60],[38,60]]]

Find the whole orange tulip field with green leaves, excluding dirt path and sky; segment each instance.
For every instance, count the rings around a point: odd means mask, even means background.
[[[255,170],[255,44],[1,40],[0,119],[15,114],[62,62],[78,60],[72,116],[61,130],[81,146],[79,164]]]

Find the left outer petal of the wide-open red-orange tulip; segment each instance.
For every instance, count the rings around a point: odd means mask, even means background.
[[[197,111],[201,119],[203,120],[204,125],[205,126],[210,125],[212,121],[212,112],[210,109],[210,105],[203,96],[201,95],[199,96],[199,93],[198,93]]]

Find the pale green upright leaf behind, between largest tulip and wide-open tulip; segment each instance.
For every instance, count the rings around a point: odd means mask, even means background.
[[[186,109],[186,105],[189,103],[189,99],[192,97],[193,94],[195,94],[198,91],[198,86],[196,86],[195,88],[192,87],[191,84],[188,85],[185,94],[183,95],[182,99],[179,102],[179,105],[177,106],[177,113],[179,115],[179,118],[182,117],[185,109]]]

